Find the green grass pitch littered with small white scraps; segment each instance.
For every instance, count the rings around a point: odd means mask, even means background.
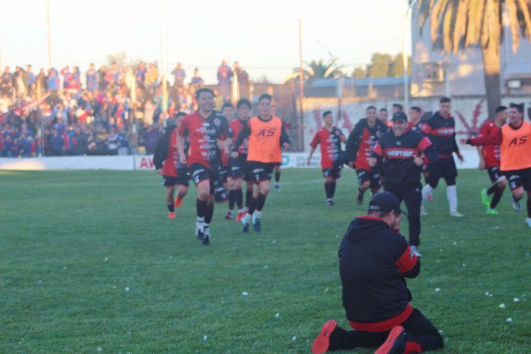
[[[310,353],[326,319],[347,326],[337,245],[366,209],[352,171],[335,207],[320,178],[283,171],[260,234],[216,205],[205,247],[194,188],[169,220],[153,172],[0,171],[0,353]],[[507,194],[484,214],[486,184],[460,172],[461,219],[436,189],[413,306],[442,330],[443,353],[531,353],[531,230]]]

